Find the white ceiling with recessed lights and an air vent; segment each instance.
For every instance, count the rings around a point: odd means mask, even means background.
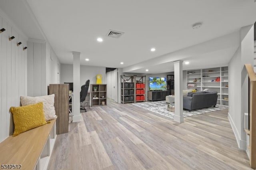
[[[211,46],[230,42],[227,34],[239,37],[239,29],[256,20],[254,0],[1,0],[0,8],[29,38],[47,39],[60,63],[72,64],[78,51],[83,65],[136,73],[173,71],[177,59],[190,61],[184,69],[227,65],[238,41]],[[202,27],[193,30],[196,22]],[[109,29],[124,35],[106,37]],[[197,52],[188,53],[192,48]]]

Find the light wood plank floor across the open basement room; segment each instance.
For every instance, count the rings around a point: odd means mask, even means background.
[[[227,110],[185,123],[131,104],[93,107],[58,135],[49,170],[250,169],[238,150]]]

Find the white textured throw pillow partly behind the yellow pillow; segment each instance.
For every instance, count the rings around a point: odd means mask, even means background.
[[[22,106],[32,105],[39,102],[43,102],[44,104],[44,117],[46,121],[50,121],[57,117],[54,108],[54,94],[39,97],[20,96],[20,103]]]

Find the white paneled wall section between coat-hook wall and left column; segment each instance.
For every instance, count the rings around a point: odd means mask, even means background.
[[[47,95],[47,86],[57,83],[58,57],[48,42],[28,42],[28,96]]]

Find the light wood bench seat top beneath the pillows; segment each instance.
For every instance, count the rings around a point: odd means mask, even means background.
[[[1,164],[21,164],[22,169],[33,170],[42,153],[56,119],[18,136],[9,136],[0,143]]]

